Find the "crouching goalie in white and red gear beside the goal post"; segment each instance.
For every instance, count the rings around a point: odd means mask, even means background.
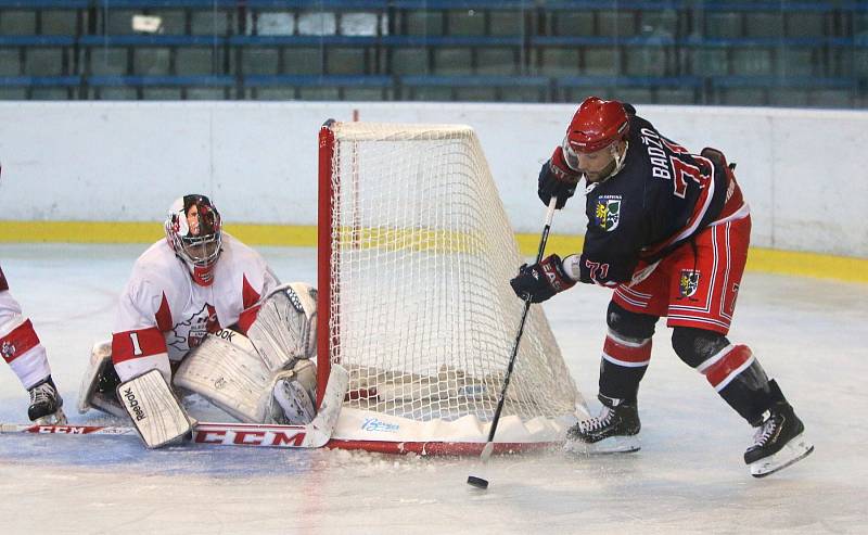
[[[207,196],[175,201],[165,232],[136,260],[111,342],[93,346],[79,412],[129,415],[149,447],[190,432],[176,397],[189,392],[245,423],[309,423],[316,290],[281,285],[256,251],[222,232]]]

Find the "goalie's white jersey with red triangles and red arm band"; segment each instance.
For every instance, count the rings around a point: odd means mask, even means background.
[[[246,332],[263,295],[278,285],[265,259],[224,232],[214,282],[196,284],[165,240],[137,260],[120,296],[112,336],[112,360],[122,381],[180,360],[207,333],[233,326]]]

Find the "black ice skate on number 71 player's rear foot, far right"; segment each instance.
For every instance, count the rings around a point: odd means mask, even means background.
[[[754,477],[773,474],[814,451],[814,445],[804,436],[805,425],[783,398],[778,384],[769,381],[769,386],[775,402],[756,428],[753,446],[744,451],[744,462]]]

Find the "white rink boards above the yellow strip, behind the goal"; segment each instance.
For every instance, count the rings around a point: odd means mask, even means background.
[[[171,200],[210,194],[228,222],[316,221],[317,132],[326,118],[475,128],[516,231],[536,233],[540,164],[572,104],[2,102],[0,219],[162,220]],[[738,163],[752,245],[868,257],[868,112],[638,106],[693,151]],[[580,193],[577,193],[580,196]],[[582,233],[582,200],[556,218]]]

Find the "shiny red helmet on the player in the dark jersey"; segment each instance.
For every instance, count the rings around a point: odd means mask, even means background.
[[[588,154],[625,139],[629,127],[627,112],[621,102],[588,97],[573,115],[566,129],[566,141],[573,151]]]

